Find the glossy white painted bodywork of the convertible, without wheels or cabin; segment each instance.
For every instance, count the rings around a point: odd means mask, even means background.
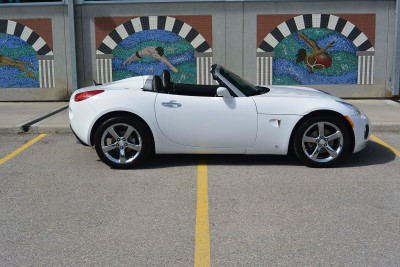
[[[288,152],[295,125],[307,114],[329,110],[348,116],[355,127],[354,152],[365,147],[364,115],[338,101],[340,98],[306,87],[271,86],[270,92],[234,97],[199,97],[149,92],[150,76],[128,78],[109,84],[82,88],[71,96],[69,116],[76,136],[88,145],[96,121],[111,112],[128,112],[149,126],[158,154],[229,153],[280,154]],[[105,90],[84,101],[75,102],[76,94]],[[175,101],[179,107],[166,107]]]

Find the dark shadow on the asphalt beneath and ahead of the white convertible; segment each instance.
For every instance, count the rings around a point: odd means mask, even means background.
[[[358,153],[350,155],[344,162],[338,164],[337,168],[361,167],[379,165],[391,162],[396,159],[396,155],[386,147],[369,141],[367,147]],[[140,169],[157,169],[180,166],[196,166],[200,161],[205,161],[207,165],[275,165],[275,166],[303,166],[294,153],[289,155],[186,155],[186,154],[164,154],[155,155]]]

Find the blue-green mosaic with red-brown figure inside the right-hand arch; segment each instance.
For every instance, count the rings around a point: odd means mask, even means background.
[[[274,52],[273,84],[357,84],[357,47],[338,32],[298,31]]]

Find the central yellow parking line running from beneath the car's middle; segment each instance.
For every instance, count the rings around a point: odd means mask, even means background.
[[[194,266],[210,266],[210,225],[208,220],[207,164],[200,161],[197,168],[197,210]]]

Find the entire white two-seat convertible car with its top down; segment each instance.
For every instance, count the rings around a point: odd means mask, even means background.
[[[220,65],[218,85],[172,83],[147,75],[74,92],[71,128],[114,168],[152,153],[275,154],[294,150],[308,166],[328,167],[366,146],[371,125],[356,107],[306,87],[259,87]]]

